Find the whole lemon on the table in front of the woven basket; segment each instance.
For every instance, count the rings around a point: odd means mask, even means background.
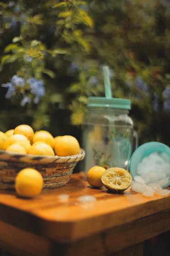
[[[22,197],[33,198],[40,194],[42,187],[42,175],[33,168],[24,168],[16,176],[15,189]]]

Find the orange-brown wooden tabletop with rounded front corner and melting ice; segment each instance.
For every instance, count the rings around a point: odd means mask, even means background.
[[[61,194],[68,194],[68,201],[62,202]],[[81,195],[93,195],[97,200],[84,204],[77,201]],[[104,187],[93,189],[83,175],[75,173],[63,188],[42,191],[30,200],[0,190],[0,209],[4,222],[56,241],[72,241],[168,210],[170,196],[148,198],[130,190],[108,193]]]

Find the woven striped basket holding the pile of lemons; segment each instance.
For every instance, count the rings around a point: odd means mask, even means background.
[[[67,157],[20,155],[0,150],[0,189],[14,190],[15,177],[23,168],[34,168],[43,177],[43,190],[64,186],[77,162],[84,159],[85,151]]]

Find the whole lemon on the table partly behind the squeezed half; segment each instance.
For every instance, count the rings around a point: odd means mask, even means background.
[[[91,186],[100,188],[103,186],[101,177],[106,169],[102,166],[93,166],[88,170],[87,181]]]

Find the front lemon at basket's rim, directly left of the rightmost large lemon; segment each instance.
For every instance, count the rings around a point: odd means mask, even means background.
[[[31,146],[29,149],[28,154],[31,155],[51,155],[54,156],[53,148],[49,144],[46,144],[44,142],[35,143]]]

